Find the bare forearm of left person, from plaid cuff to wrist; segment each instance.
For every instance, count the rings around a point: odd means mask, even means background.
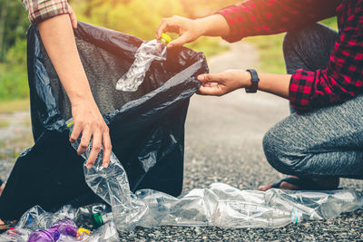
[[[38,24],[46,52],[58,73],[72,105],[93,101],[87,76],[77,51],[68,15],[58,15]]]

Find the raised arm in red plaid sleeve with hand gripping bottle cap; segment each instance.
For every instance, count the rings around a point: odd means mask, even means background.
[[[278,34],[336,15],[341,0],[247,0],[230,5],[216,15],[199,19],[172,16],[162,19],[156,30],[179,34],[168,47],[191,43],[200,36],[221,36],[229,42],[253,35]]]

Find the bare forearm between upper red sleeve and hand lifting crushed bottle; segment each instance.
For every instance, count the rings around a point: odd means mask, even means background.
[[[195,21],[201,27],[201,35],[223,37],[230,34],[230,25],[222,15],[210,15]]]

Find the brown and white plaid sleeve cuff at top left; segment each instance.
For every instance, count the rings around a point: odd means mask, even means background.
[[[22,0],[22,2],[32,24],[38,24],[56,15],[72,13],[67,0]]]

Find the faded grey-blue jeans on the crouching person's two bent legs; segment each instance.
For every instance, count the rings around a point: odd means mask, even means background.
[[[287,72],[326,68],[337,37],[322,24],[286,34]],[[292,113],[265,134],[263,148],[270,165],[281,173],[363,179],[363,95],[304,114]]]

